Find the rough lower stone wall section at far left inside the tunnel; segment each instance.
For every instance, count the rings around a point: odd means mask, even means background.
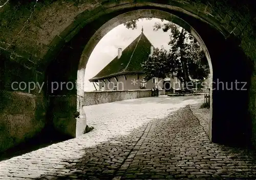
[[[46,107],[41,96],[0,91],[0,152],[40,133]]]

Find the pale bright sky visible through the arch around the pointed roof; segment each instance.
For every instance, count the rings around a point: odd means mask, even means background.
[[[170,32],[163,32],[161,29],[154,31],[153,26],[156,22],[164,23],[168,21],[161,21],[157,18],[152,18],[151,20],[139,19],[139,21],[137,21],[137,29],[127,29],[123,24],[120,24],[109,31],[98,42],[90,55],[86,66],[84,91],[95,90],[93,83],[90,83],[88,80],[93,78],[117,56],[119,47],[125,49],[127,46],[129,46],[129,44],[141,34],[142,26],[143,33],[155,48],[161,48],[161,46],[168,48]]]

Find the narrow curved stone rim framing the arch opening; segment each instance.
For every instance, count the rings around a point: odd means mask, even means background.
[[[78,80],[77,94],[78,94],[78,101],[80,101],[79,105],[82,106],[83,101],[84,101],[84,98],[83,98],[83,94],[84,94],[83,80],[84,80],[85,67],[87,65],[87,62],[89,60],[89,57],[90,57],[91,53],[93,52],[93,49],[95,48],[95,46],[97,45],[99,40],[101,38],[103,38],[110,30],[115,28],[117,25],[120,25],[124,22],[130,21],[130,20],[133,20],[133,19],[136,19],[136,18],[146,18],[146,17],[154,17],[154,18],[165,19],[165,20],[168,20],[170,22],[174,22],[174,23],[180,25],[182,28],[184,28],[191,35],[193,35],[195,37],[195,39],[197,39],[197,41],[199,42],[200,46],[203,48],[203,51],[206,55],[206,58],[207,58],[207,61],[208,61],[208,64],[209,64],[210,74],[211,74],[210,82],[212,82],[212,73],[213,73],[213,71],[212,71],[211,59],[210,59],[208,49],[207,49],[206,45],[204,44],[202,38],[195,31],[195,29],[193,29],[193,27],[191,27],[186,21],[179,18],[178,16],[170,14],[170,13],[165,12],[165,11],[154,10],[154,9],[133,10],[133,11],[129,11],[129,12],[120,14],[120,15],[110,19],[108,22],[104,23],[93,34],[93,36],[90,38],[90,40],[88,41],[88,43],[84,47],[84,49],[82,51],[82,56],[81,56],[80,61],[79,61],[78,73],[77,73],[77,80]],[[212,85],[212,84],[210,84],[210,85]],[[211,92],[210,92],[210,96],[211,96],[212,95],[212,87],[210,87],[210,89],[211,89]],[[79,107],[79,109],[81,110],[80,112],[83,111],[81,107]],[[211,117],[212,117],[212,98],[210,100],[209,122],[212,119]],[[209,132],[211,132],[211,126],[210,126]],[[210,137],[210,139],[211,139],[211,137]]]

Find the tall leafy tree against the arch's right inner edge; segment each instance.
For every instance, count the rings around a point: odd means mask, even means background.
[[[170,30],[170,41],[168,42],[170,50],[168,53],[172,54],[169,57],[177,63],[176,69],[170,69],[170,72],[174,73],[183,83],[190,82],[190,78],[198,80],[207,78],[209,74],[208,62],[197,40],[172,22],[155,23],[154,31],[159,29],[162,29],[163,32]]]

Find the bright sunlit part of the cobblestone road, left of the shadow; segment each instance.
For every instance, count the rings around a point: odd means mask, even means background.
[[[154,117],[166,117],[170,112],[202,99],[203,96],[159,96],[84,107],[88,123],[95,127],[92,132],[0,162],[0,179],[36,178],[56,167],[63,167],[62,161],[82,158],[84,148],[100,145],[117,135],[128,135]]]

